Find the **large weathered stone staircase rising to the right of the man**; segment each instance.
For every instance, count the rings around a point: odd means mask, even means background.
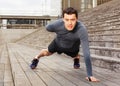
[[[120,2],[113,0],[79,19],[87,26],[93,64],[117,71],[120,69]]]

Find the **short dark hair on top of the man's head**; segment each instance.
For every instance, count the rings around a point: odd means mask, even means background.
[[[75,14],[76,18],[78,18],[78,12],[76,9],[74,9],[73,7],[68,7],[66,9],[63,10],[62,12],[62,17],[64,18],[64,14]]]

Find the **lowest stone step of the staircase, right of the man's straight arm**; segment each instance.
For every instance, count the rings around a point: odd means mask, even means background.
[[[80,55],[83,57],[82,53],[80,53]],[[91,54],[91,59],[92,59],[92,64],[97,67],[106,68],[115,72],[120,71],[119,58]]]

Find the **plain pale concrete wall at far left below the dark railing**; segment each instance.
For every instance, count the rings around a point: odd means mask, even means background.
[[[1,41],[15,42],[16,40],[34,32],[36,29],[0,29]],[[2,43],[2,44],[4,44]]]

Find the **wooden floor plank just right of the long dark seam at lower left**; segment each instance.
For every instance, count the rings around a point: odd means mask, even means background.
[[[19,62],[14,55],[16,50],[12,49],[11,45],[8,45],[8,51],[15,86],[31,86],[31,83],[29,82],[28,78],[26,77],[24,71],[22,70]]]

